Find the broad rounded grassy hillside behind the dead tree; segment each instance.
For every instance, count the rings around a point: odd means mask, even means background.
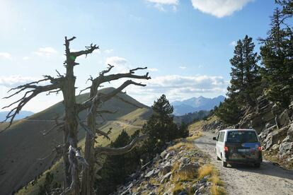
[[[102,93],[107,93],[113,88],[102,89]],[[77,102],[83,102],[88,94],[76,96]],[[103,114],[106,122],[100,129],[108,131],[112,127],[113,134],[110,138],[114,139],[123,128],[129,133],[139,129],[144,120],[151,114],[149,107],[142,105],[126,94],[119,94],[119,98],[113,98],[105,102],[101,109],[112,110],[115,114]],[[127,103],[131,102],[131,104]],[[134,106],[137,105],[137,106]],[[52,147],[62,143],[62,132],[52,131],[47,136],[42,136],[42,131],[50,129],[54,124],[52,119],[59,114],[62,116],[64,107],[61,102],[47,108],[46,110],[33,114],[27,119],[19,120],[11,128],[0,134],[0,189],[2,194],[11,194],[20,187],[33,180],[40,173],[47,170],[52,165],[54,155],[46,160],[37,160],[50,154]],[[80,118],[84,119],[85,112],[81,113]],[[80,144],[82,145],[84,130],[79,130]],[[110,141],[98,138],[106,146]],[[57,163],[58,164],[58,163]],[[55,165],[60,170],[62,166]],[[59,167],[58,167],[59,166]],[[30,194],[30,193],[29,193]]]

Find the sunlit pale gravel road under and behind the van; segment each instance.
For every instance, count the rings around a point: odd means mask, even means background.
[[[283,170],[268,161],[264,161],[260,168],[250,165],[222,167],[214,153],[213,136],[205,133],[205,136],[195,140],[195,145],[211,155],[212,163],[219,170],[228,194],[293,194],[293,171]]]

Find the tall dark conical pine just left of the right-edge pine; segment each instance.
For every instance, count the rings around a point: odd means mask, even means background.
[[[230,59],[231,86],[228,88],[229,98],[236,100],[239,105],[248,103],[255,105],[259,93],[256,88],[260,84],[258,66],[258,53],[254,52],[254,43],[251,37],[246,35],[239,40],[234,49],[234,57]]]

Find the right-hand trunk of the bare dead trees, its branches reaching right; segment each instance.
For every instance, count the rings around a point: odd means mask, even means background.
[[[86,195],[91,195],[94,194],[93,191],[93,184],[94,184],[94,179],[95,175],[93,174],[94,172],[94,166],[96,159],[98,158],[97,155],[102,153],[101,148],[95,148],[95,139],[93,139],[93,135],[101,135],[105,136],[105,138],[108,138],[108,134],[103,133],[103,131],[100,131],[98,129],[98,126],[96,126],[96,117],[98,117],[98,114],[101,112],[105,112],[103,110],[98,110],[98,108],[103,104],[103,102],[110,100],[110,98],[113,98],[117,93],[121,93],[121,91],[127,87],[127,85],[139,85],[139,86],[145,86],[142,83],[136,83],[132,80],[125,81],[122,85],[120,85],[119,88],[113,90],[112,92],[108,94],[103,94],[103,93],[98,93],[98,88],[100,85],[103,83],[108,83],[110,81],[115,81],[120,78],[136,78],[136,79],[150,79],[149,73],[146,73],[143,76],[139,76],[135,74],[135,71],[138,70],[144,70],[144,68],[137,68],[137,69],[132,69],[128,73],[117,73],[117,74],[110,74],[110,75],[105,75],[106,73],[109,73],[111,69],[113,69],[114,66],[111,66],[108,64],[108,69],[105,71],[100,72],[99,76],[97,78],[90,78],[91,80],[91,86],[88,87],[90,89],[90,102],[86,102],[87,107],[88,107],[88,117],[87,117],[87,127],[86,129],[89,129],[90,133],[86,134],[86,145],[85,145],[85,154],[84,158],[88,162],[88,168],[84,171],[83,178],[82,178],[82,191]],[[137,140],[139,141],[139,140]],[[135,143],[135,142],[134,142]],[[132,146],[132,144],[130,144]],[[124,148],[124,149],[117,149],[117,148],[111,148],[109,150],[103,149],[103,154],[105,155],[121,155],[123,153],[127,153],[132,147],[129,149]]]

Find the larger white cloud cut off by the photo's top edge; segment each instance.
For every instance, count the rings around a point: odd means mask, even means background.
[[[243,6],[254,0],[191,0],[193,7],[209,13],[212,16],[222,18],[230,16],[235,11],[240,11]]]

